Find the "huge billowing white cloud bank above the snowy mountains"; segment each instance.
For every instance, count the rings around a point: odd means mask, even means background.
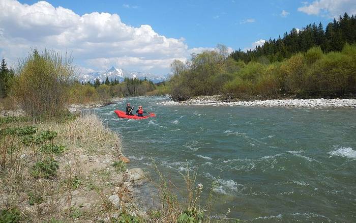
[[[82,70],[105,70],[112,64],[127,70],[168,73],[170,63],[191,52],[184,38],[168,38],[150,25],[127,25],[117,14],[82,16],[47,2],[33,5],[0,0],[0,58],[9,64],[26,57],[32,47],[71,52]]]

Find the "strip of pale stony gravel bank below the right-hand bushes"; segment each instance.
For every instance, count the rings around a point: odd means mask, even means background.
[[[200,96],[187,101],[163,101],[162,105],[210,105],[210,106],[265,106],[265,107],[353,107],[356,108],[356,99],[276,99],[276,100],[254,100],[254,101],[232,101],[221,100],[221,96]]]

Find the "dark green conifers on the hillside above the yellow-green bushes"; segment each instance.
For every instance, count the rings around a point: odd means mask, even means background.
[[[308,49],[319,46],[323,52],[340,51],[345,43],[356,43],[356,17],[347,13],[340,16],[339,20],[334,18],[325,30],[321,22],[303,27],[301,30],[292,29],[285,33],[283,38],[270,39],[262,46],[256,46],[253,50],[246,52],[241,49],[231,53],[231,57],[236,61],[242,60],[245,63],[250,61],[269,62],[283,61],[298,52],[306,52]]]

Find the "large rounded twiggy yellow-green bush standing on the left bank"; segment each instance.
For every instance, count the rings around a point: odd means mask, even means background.
[[[55,51],[35,49],[19,62],[14,95],[30,116],[55,116],[65,110],[75,69],[72,58]]]

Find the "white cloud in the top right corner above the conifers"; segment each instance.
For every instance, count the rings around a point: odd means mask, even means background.
[[[355,0],[317,0],[313,3],[303,3],[304,6],[298,8],[299,12],[304,12],[308,15],[323,15],[332,18],[338,18],[345,12],[356,15]]]

